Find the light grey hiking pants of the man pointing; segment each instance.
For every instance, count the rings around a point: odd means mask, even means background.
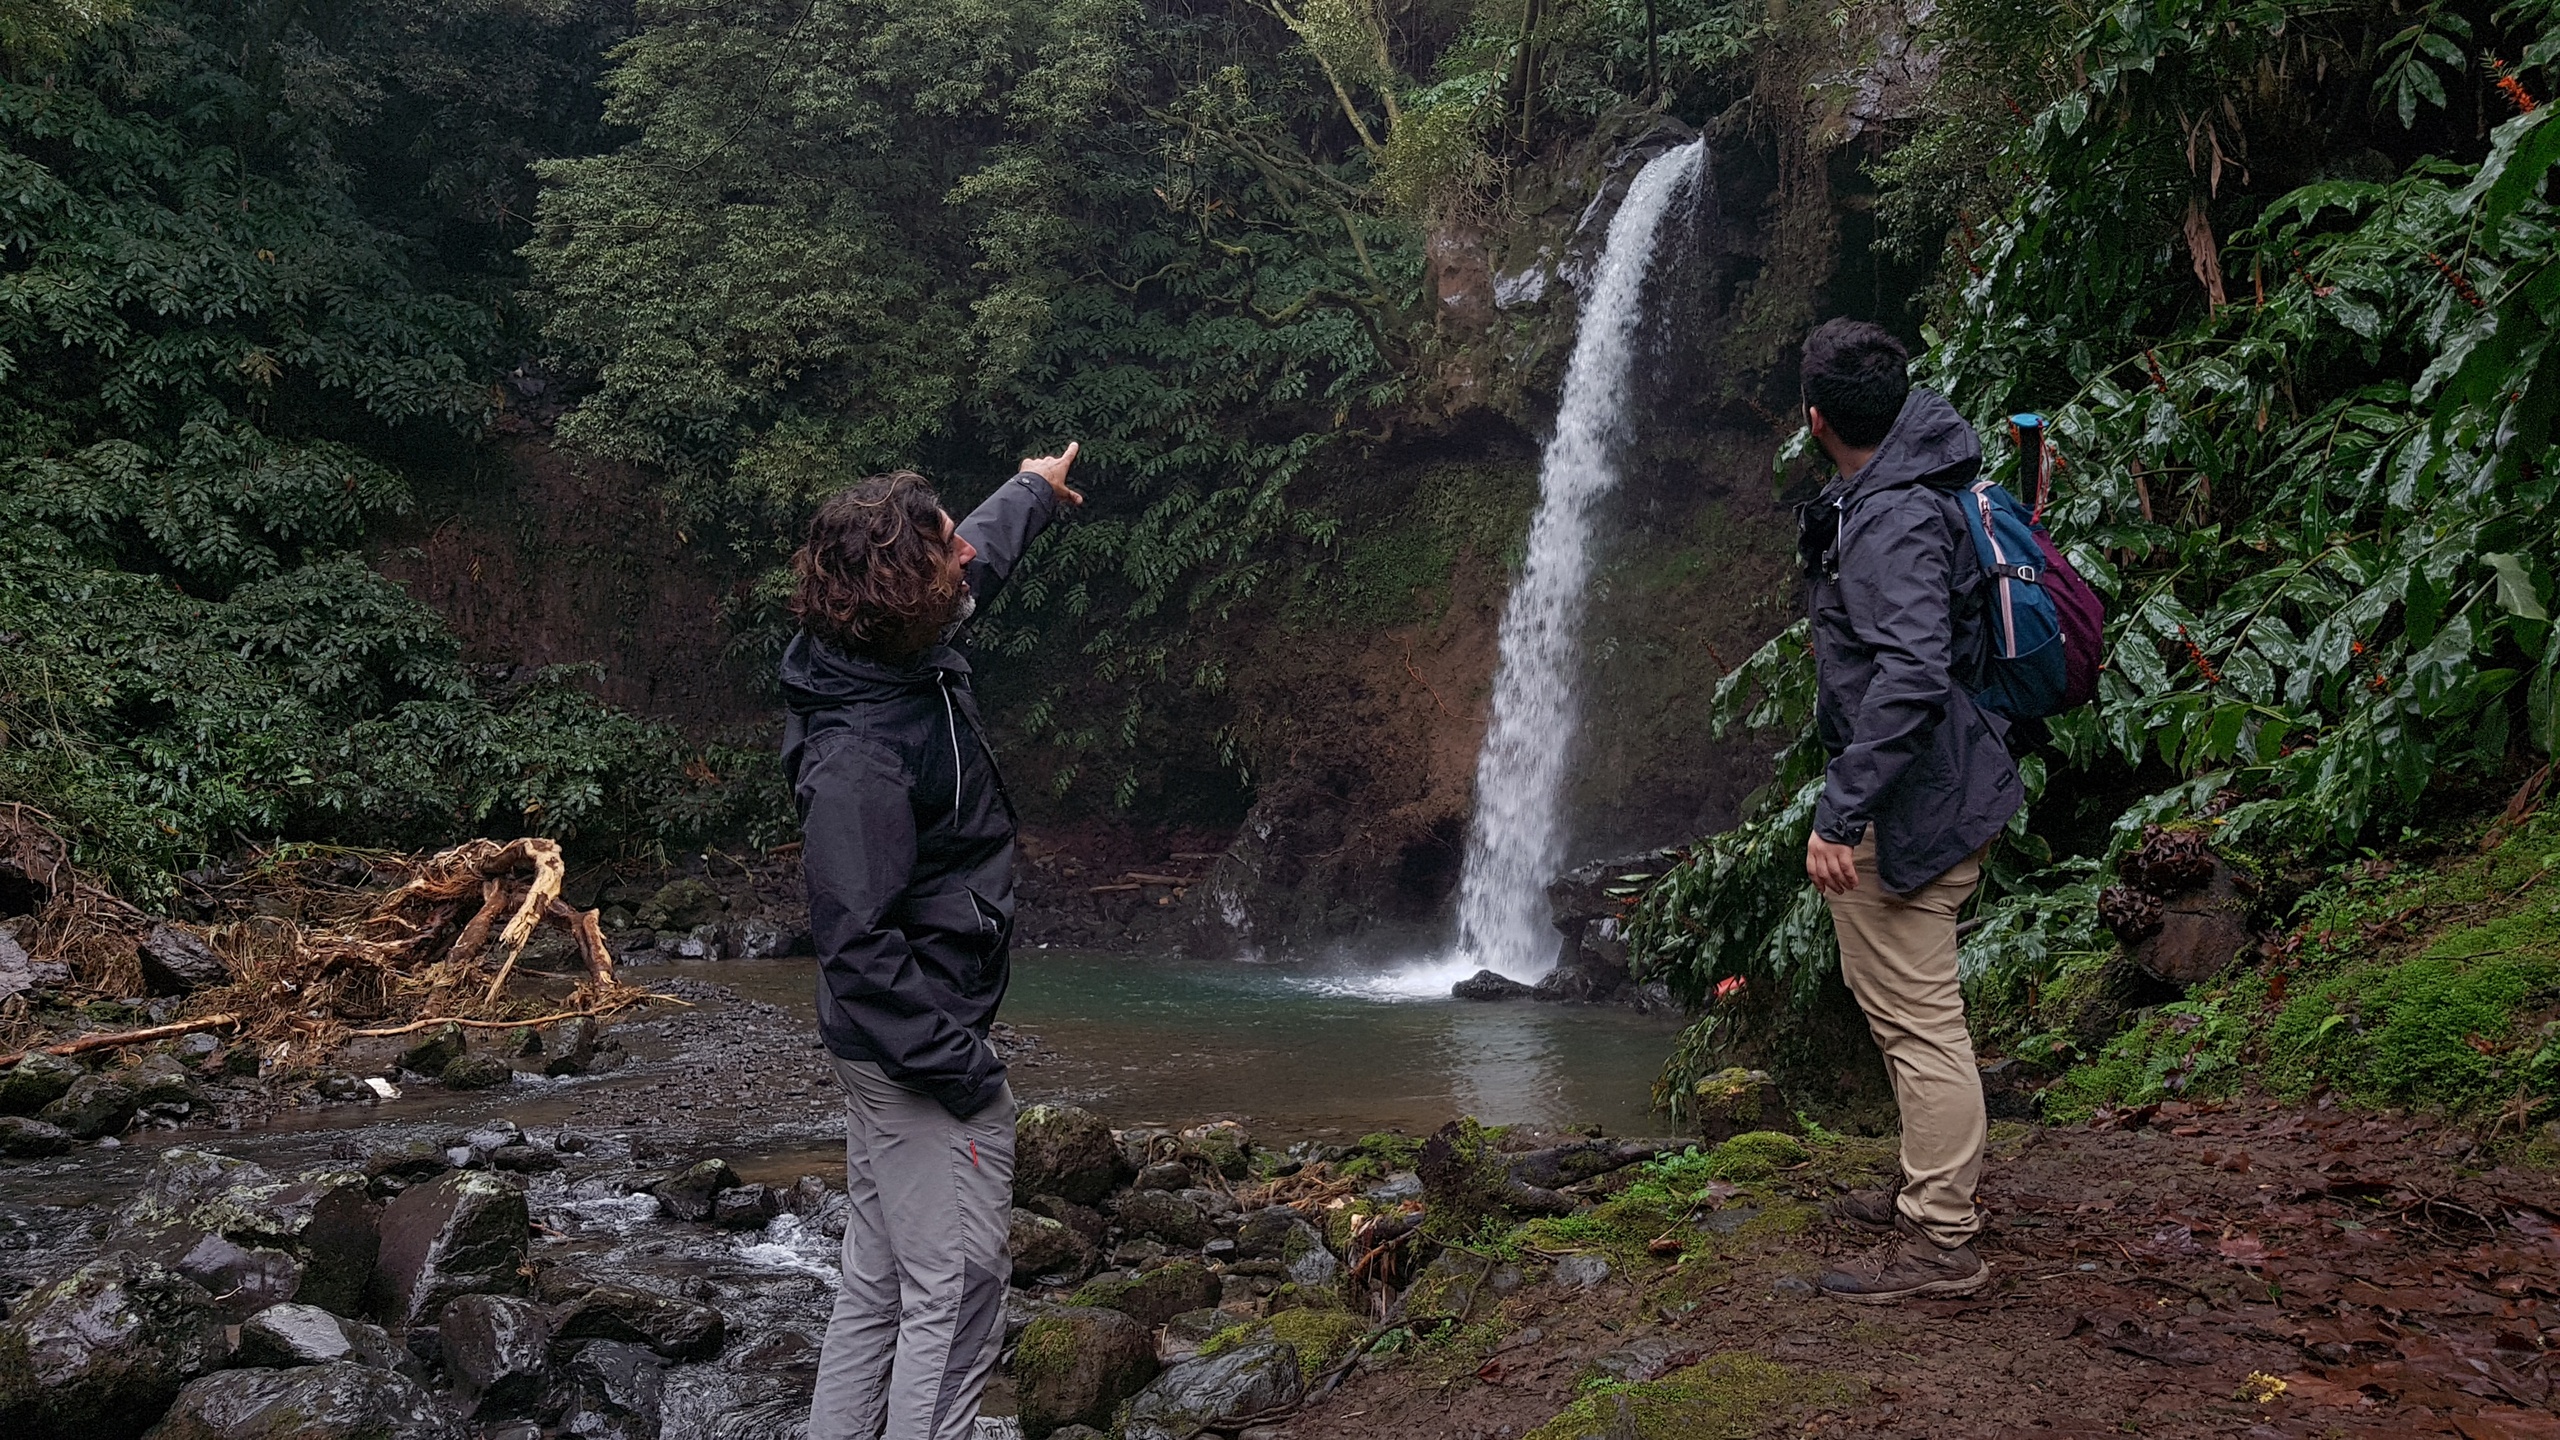
[[[1004,1345],[1014,1092],[968,1120],[835,1061],[845,1086],[845,1284],[809,1440],[965,1440]]]

